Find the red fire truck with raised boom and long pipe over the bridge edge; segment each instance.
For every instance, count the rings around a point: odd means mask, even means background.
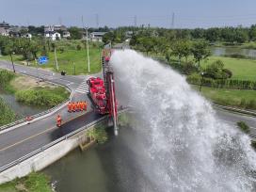
[[[118,135],[118,104],[115,92],[114,72],[109,65],[111,50],[104,50],[102,57],[104,79],[90,77],[87,81],[89,95],[100,114],[109,114],[113,120],[115,135]]]

